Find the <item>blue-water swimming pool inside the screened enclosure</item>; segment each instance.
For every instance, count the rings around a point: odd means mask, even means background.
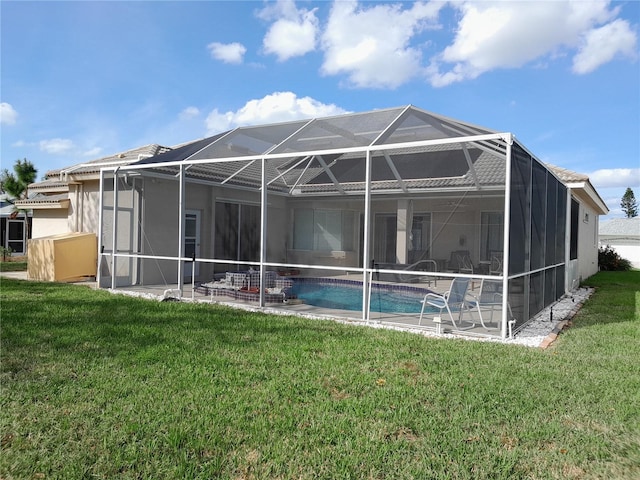
[[[419,314],[420,301],[430,290],[374,284],[371,312]],[[323,308],[362,311],[362,283],[353,280],[296,279],[291,293],[304,303]]]

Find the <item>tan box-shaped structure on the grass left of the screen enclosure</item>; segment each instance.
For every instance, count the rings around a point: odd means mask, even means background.
[[[29,240],[29,280],[74,282],[96,276],[98,237],[94,233],[61,233]]]

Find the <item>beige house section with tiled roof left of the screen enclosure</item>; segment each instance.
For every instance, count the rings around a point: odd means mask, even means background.
[[[43,181],[29,185],[29,199],[17,203],[33,212],[31,237],[75,232],[98,235],[100,169],[128,165],[168,150],[145,145],[47,172]]]

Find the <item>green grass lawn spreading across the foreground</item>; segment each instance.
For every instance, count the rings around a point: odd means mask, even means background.
[[[0,478],[640,478],[640,272],[552,348],[2,279]]]

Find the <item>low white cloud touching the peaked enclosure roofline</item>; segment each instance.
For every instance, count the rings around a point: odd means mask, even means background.
[[[235,112],[220,113],[214,109],[207,116],[208,134],[220,133],[242,125],[286,122],[303,118],[325,117],[347,113],[333,104],[324,104],[311,97],[298,98],[292,92],[275,92],[248,101]]]

